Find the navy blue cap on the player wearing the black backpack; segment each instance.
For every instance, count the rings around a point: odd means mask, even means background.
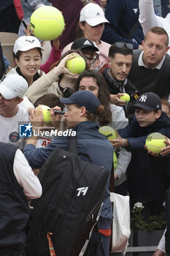
[[[96,108],[101,105],[101,102],[91,91],[76,91],[69,98],[61,98],[60,101],[64,104],[76,104],[80,107],[84,106],[90,113],[95,114]]]

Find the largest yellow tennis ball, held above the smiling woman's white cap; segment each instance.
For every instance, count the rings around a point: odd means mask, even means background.
[[[59,37],[64,29],[61,11],[51,6],[36,9],[31,15],[30,24],[34,36],[45,41]]]

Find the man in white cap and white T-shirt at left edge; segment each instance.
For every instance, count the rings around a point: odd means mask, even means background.
[[[20,106],[28,89],[28,83],[20,75],[8,75],[0,83],[0,141],[12,143],[23,149],[24,141],[19,135],[19,122],[29,122],[28,112]]]

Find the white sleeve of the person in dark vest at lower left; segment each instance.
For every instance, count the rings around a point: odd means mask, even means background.
[[[41,197],[42,185],[39,182],[39,178],[34,175],[26,157],[24,157],[20,149],[15,153],[13,170],[20,187],[23,187],[26,197],[30,199]]]

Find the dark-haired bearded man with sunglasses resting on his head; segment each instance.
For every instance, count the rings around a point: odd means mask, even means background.
[[[131,70],[134,45],[126,42],[115,42],[109,48],[109,67],[104,69],[104,79],[109,86],[110,98],[115,105],[123,106],[126,104],[120,99],[120,95],[127,93],[131,97],[131,104],[138,97],[138,91],[128,80],[128,74]],[[128,115],[127,108],[126,113]]]

